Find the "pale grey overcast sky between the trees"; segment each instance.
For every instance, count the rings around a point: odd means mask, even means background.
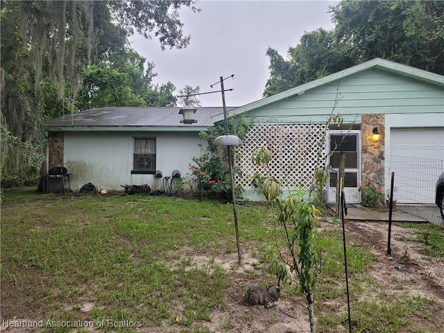
[[[160,49],[153,37],[133,36],[133,49],[154,62],[155,83],[171,81],[178,89],[191,85],[200,92],[220,90],[210,85],[224,81],[228,106],[241,106],[258,99],[269,78],[268,46],[287,58],[289,46],[296,46],[303,33],[333,28],[328,6],[334,1],[210,1],[197,4],[200,12],[180,11],[185,35],[191,35],[186,49]],[[221,106],[221,93],[199,96],[202,106]]]

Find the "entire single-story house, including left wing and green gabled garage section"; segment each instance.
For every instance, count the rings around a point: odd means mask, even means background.
[[[191,124],[180,123],[179,110],[101,108],[53,119],[49,167],[67,167],[74,190],[85,182],[155,188],[146,165],[163,176],[173,170],[185,176],[205,144],[198,132],[223,124],[223,109],[198,108]],[[444,171],[444,76],[376,58],[228,108],[228,117],[240,114],[255,124],[238,147],[244,177],[237,182],[247,198],[262,198],[251,182],[255,173],[271,173],[290,189],[307,188],[316,168],[327,166],[327,201],[334,202],[339,151],[345,151],[349,203],[361,200],[361,184],[386,191],[392,172],[399,203],[433,203],[434,182]],[[251,162],[258,146],[273,153],[268,171]]]

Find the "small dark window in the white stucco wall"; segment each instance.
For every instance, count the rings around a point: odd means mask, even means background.
[[[155,139],[134,139],[134,160],[131,173],[155,172]]]

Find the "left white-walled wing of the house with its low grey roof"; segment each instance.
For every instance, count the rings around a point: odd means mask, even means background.
[[[181,123],[179,112],[94,108],[53,119],[48,123],[47,168],[66,167],[74,191],[87,182],[99,190],[145,184],[164,189],[165,180],[186,176],[191,158],[203,153],[207,142],[198,134],[214,126],[212,117],[223,108],[197,108],[194,123]]]

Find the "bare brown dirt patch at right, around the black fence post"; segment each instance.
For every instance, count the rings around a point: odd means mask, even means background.
[[[336,227],[341,228],[337,225]],[[325,223],[324,228],[331,228],[331,225]],[[433,258],[435,264],[431,265],[430,257],[423,255],[420,244],[405,242],[405,239],[411,239],[412,230],[399,225],[392,225],[390,256],[387,255],[388,223],[348,221],[345,224],[345,232],[349,241],[367,246],[377,258],[368,274],[377,280],[382,290],[393,295],[399,292],[433,300],[429,306],[433,315],[428,322],[418,323],[418,327],[431,332],[443,332],[443,260]]]

